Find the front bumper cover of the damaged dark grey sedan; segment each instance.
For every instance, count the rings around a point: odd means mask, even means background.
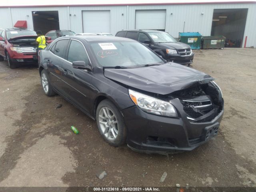
[[[148,114],[137,106],[123,110],[128,147],[158,154],[190,151],[217,134],[224,110],[210,122],[194,123],[188,121],[178,100],[172,100],[172,104],[178,109],[179,118]]]

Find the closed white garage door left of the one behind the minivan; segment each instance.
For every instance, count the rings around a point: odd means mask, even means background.
[[[110,33],[110,11],[83,11],[84,33]]]

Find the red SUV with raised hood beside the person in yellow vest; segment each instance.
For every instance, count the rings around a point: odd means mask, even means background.
[[[27,29],[0,29],[0,61],[7,59],[10,68],[24,62],[37,63],[37,34]]]

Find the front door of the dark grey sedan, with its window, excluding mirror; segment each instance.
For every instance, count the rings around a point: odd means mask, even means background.
[[[74,39],[70,41],[66,59],[68,62],[63,62],[62,66],[64,71],[62,80],[65,82],[64,92],[72,102],[83,108],[86,112],[89,112],[92,72],[76,69],[72,66],[74,61],[84,61],[90,64],[88,54],[82,42]]]

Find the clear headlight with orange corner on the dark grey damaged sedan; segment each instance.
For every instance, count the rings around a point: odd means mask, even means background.
[[[129,95],[134,104],[147,113],[177,117],[178,114],[170,102],[156,99],[129,89]]]

